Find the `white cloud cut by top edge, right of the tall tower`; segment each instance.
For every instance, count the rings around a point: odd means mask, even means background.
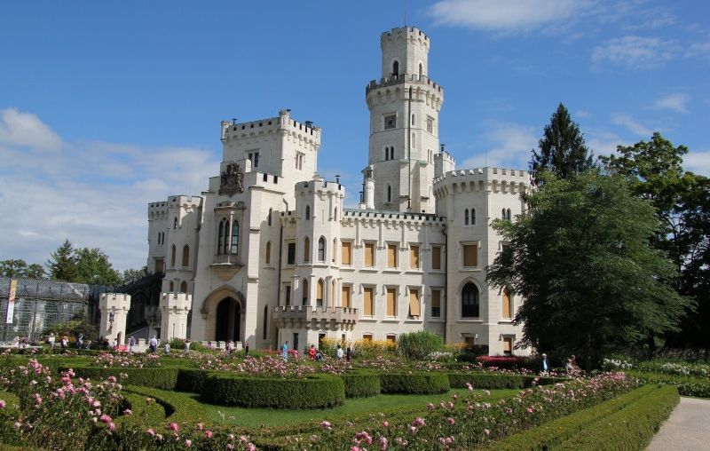
[[[586,0],[442,0],[430,14],[438,24],[518,32],[569,20],[592,4]]]

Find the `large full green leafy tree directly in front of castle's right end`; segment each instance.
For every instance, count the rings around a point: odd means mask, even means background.
[[[509,246],[488,281],[525,299],[522,343],[581,355],[590,369],[601,352],[677,330],[692,302],[664,282],[675,268],[649,244],[659,227],[650,202],[597,170],[540,177],[527,213],[493,223]]]

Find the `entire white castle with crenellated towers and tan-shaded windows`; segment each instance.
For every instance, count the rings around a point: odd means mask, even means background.
[[[485,267],[506,244],[491,223],[524,209],[528,173],[454,170],[439,149],[444,90],[429,76],[429,37],[394,28],[381,46],[382,76],[366,88],[358,209],[344,207],[339,180],[317,173],[319,127],[289,110],[223,122],[223,161],[207,191],[149,204],[148,269],[165,273],[163,315],[181,315],[162,319],[162,338],[252,349],[288,340],[303,350],[322,337],[429,330],[446,343],[513,352],[521,299],[489,287]]]

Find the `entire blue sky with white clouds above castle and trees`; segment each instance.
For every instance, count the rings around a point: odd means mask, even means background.
[[[353,203],[366,84],[401,0],[0,5],[0,259],[43,263],[65,238],[145,264],[146,203],[200,194],[219,123],[291,108],[323,129],[319,171]],[[443,85],[459,168],[525,169],[563,102],[596,154],[660,131],[710,175],[710,4],[409,1]]]

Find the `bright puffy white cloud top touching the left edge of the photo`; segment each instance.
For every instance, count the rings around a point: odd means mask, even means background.
[[[36,115],[7,108],[0,111],[0,144],[56,150],[61,138]]]

